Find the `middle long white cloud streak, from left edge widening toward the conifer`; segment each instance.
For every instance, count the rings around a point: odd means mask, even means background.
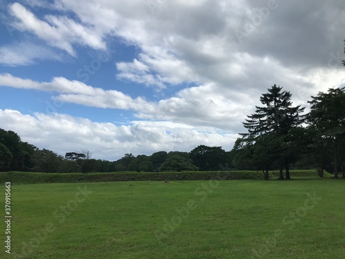
[[[63,102],[70,102],[99,108],[132,110],[137,112],[136,116],[141,119],[232,129],[235,133],[242,127],[244,115],[253,105],[248,95],[235,91],[224,91],[224,95],[219,95],[215,84],[184,89],[176,97],[161,99],[159,102],[148,102],[142,97],[133,99],[117,90],[94,88],[63,77],[55,77],[50,82],[37,82],[10,74],[0,74],[0,86],[58,93],[53,97],[59,101],[55,111]],[[247,99],[248,104],[243,105],[243,99]]]

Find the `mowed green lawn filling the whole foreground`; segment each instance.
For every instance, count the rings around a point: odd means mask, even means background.
[[[0,258],[345,258],[344,187],[317,178],[12,184],[12,253],[1,246]]]

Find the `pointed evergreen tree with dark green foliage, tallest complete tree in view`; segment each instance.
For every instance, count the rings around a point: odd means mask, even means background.
[[[260,97],[264,106],[256,106],[255,113],[248,115],[244,127],[248,133],[242,134],[240,142],[244,148],[234,157],[244,158],[245,153],[250,154],[250,164],[264,171],[264,179],[268,179],[268,171],[273,168],[285,167],[286,179],[290,179],[289,168],[299,154],[299,148],[304,146],[301,142],[303,132],[300,124],[304,122],[304,111],[301,106],[292,106],[291,93],[282,91],[280,86],[272,86],[268,93]],[[238,144],[239,144],[238,143]],[[233,149],[233,153],[236,149]],[[245,159],[248,160],[249,157]],[[238,163],[238,162],[237,162]],[[284,178],[281,175],[281,178]]]

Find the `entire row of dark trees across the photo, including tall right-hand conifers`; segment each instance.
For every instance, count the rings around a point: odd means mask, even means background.
[[[262,106],[248,115],[231,151],[199,145],[190,152],[159,151],[152,155],[126,153],[116,161],[96,160],[88,151],[64,156],[22,142],[17,133],[0,128],[0,171],[46,173],[112,171],[220,171],[259,170],[268,179],[290,179],[290,169],[324,170],[345,178],[345,88],[329,88],[308,101],[311,111],[293,106],[292,94],[274,85],[262,94]],[[285,175],[284,175],[285,173]]]

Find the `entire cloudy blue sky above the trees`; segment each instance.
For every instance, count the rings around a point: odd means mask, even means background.
[[[259,97],[345,86],[344,0],[0,0],[0,128],[59,155],[230,151]]]

